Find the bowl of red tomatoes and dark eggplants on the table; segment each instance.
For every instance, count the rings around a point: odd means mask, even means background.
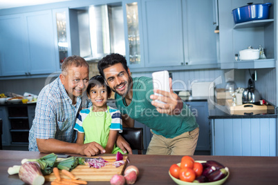
[[[219,185],[228,179],[230,172],[219,162],[195,161],[190,156],[183,156],[180,163],[170,166],[169,175],[180,185]]]

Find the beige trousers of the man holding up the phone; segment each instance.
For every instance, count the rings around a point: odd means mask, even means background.
[[[199,128],[178,135],[174,138],[166,138],[156,135],[153,137],[147,149],[147,155],[194,155],[196,149]]]

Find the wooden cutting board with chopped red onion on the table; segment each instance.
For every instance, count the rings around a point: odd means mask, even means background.
[[[92,157],[94,158],[94,157]],[[97,158],[97,157],[95,157]],[[113,162],[115,162],[115,156],[109,156],[109,157],[102,157],[105,159],[109,164],[106,164],[106,166],[103,166],[102,168],[93,168],[89,167],[88,164],[85,165],[78,165],[76,168],[71,171],[75,177],[80,178],[81,180],[92,182],[92,181],[110,181],[111,177],[115,174],[122,174],[124,171],[125,166],[127,165],[127,155],[124,155],[124,165],[116,168],[113,166]],[[62,174],[61,171],[59,171],[60,176],[62,178],[69,179],[66,175]],[[54,181],[56,179],[54,173],[51,173],[50,175],[45,175],[46,182]]]

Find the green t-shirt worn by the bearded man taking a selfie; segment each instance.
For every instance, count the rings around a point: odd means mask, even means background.
[[[115,103],[122,115],[129,115],[132,119],[151,128],[156,135],[163,135],[166,138],[174,138],[198,127],[194,115],[185,103],[180,115],[158,113],[149,98],[154,94],[151,78],[136,77],[132,80],[133,97],[129,106],[125,106],[125,100],[115,93]]]

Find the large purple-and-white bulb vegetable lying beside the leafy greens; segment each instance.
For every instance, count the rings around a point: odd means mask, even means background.
[[[19,179],[27,184],[44,184],[44,175],[41,173],[41,167],[37,162],[25,162],[19,168]]]

